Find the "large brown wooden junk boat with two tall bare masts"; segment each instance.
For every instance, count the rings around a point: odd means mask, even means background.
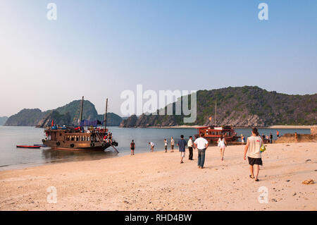
[[[112,134],[108,133],[106,128],[106,114],[108,99],[106,99],[106,113],[104,116],[104,128],[98,128],[100,121],[82,120],[82,107],[84,97],[82,97],[80,109],[80,124],[75,127],[54,126],[54,122],[50,127],[45,128],[46,138],[42,140],[47,147],[59,150],[106,150],[108,147],[118,146],[118,142],[113,140]],[[88,127],[85,130],[85,127]],[[118,152],[118,150],[116,150]]]

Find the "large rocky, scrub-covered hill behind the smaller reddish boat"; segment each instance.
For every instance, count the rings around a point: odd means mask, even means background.
[[[197,120],[194,123],[183,123],[183,115],[142,114],[124,119],[120,127],[211,126],[215,122],[216,102],[217,125],[265,127],[317,124],[317,94],[286,95],[275,91],[268,92],[256,86],[244,86],[199,90],[197,92]],[[175,108],[175,102],[173,108]],[[211,121],[210,117],[213,118]]]

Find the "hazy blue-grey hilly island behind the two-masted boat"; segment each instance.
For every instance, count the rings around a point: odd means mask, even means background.
[[[63,107],[48,111],[40,109],[23,109],[6,119],[4,126],[37,126],[44,127],[51,124],[54,119],[55,124],[73,126],[77,124],[80,114],[81,100],[75,100]],[[94,104],[87,100],[84,101],[82,118],[87,120],[104,121],[104,114],[98,114]],[[123,119],[117,114],[107,113],[107,126],[119,126]]]

